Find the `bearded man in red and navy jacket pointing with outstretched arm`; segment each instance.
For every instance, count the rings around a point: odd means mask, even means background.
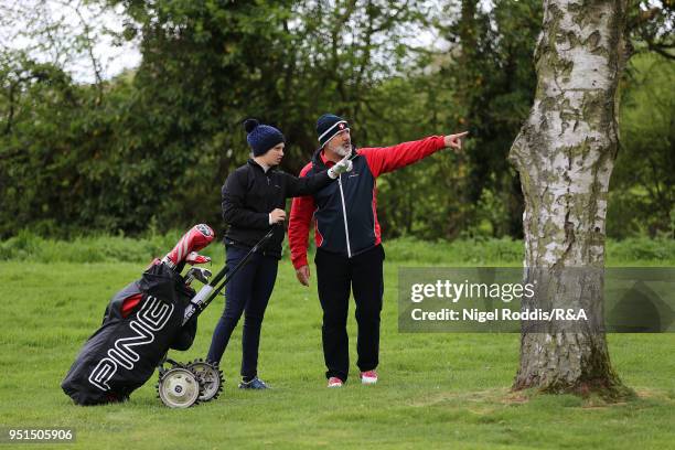
[[[375,179],[450,147],[461,150],[467,132],[356,149],[346,120],[325,114],[317,121],[320,148],[300,172],[309,176],[351,154],[352,172],[340,175],[312,196],[297,197],[291,207],[288,240],[298,280],[309,286],[308,234],[315,219],[317,279],[323,309],[322,342],[329,387],[346,382],[350,355],[346,333],[350,290],[354,291],[358,338],[357,366],[363,384],[377,383],[379,313],[384,292],[383,261],[377,223]]]

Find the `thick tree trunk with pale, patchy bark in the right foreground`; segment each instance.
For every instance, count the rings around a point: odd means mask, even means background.
[[[612,371],[602,329],[625,8],[626,0],[544,1],[535,101],[508,157],[525,196],[524,264],[537,286],[523,309],[585,309],[589,322],[524,328],[515,389],[628,392]]]

